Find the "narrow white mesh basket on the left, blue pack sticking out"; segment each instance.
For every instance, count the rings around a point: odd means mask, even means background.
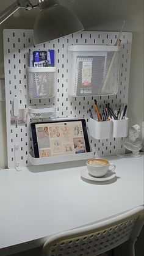
[[[30,98],[52,98],[56,93],[56,67],[27,67]]]

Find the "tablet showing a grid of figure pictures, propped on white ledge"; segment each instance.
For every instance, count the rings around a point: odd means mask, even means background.
[[[35,128],[36,135],[35,138],[34,133],[32,134],[36,147],[34,147],[35,157],[90,152],[84,121],[32,123],[32,130]]]

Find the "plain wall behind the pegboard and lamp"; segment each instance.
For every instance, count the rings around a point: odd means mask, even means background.
[[[0,10],[13,1],[0,1]],[[37,2],[37,0],[32,1]],[[143,0],[59,0],[70,7],[81,18],[86,30],[120,31],[123,20],[126,20],[123,31],[132,32],[131,73],[129,81],[128,117],[129,125],[143,120]],[[0,77],[4,76],[2,29],[31,29],[38,10],[31,13],[19,10],[0,26]],[[0,102],[0,167],[7,166],[5,104]]]

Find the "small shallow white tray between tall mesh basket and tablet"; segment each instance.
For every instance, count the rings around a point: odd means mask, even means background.
[[[29,115],[32,119],[52,118],[56,115],[56,107],[49,105],[29,106]]]

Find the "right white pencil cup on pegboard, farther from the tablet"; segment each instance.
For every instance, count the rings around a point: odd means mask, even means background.
[[[128,117],[122,120],[112,120],[112,137],[127,137],[128,124]]]

